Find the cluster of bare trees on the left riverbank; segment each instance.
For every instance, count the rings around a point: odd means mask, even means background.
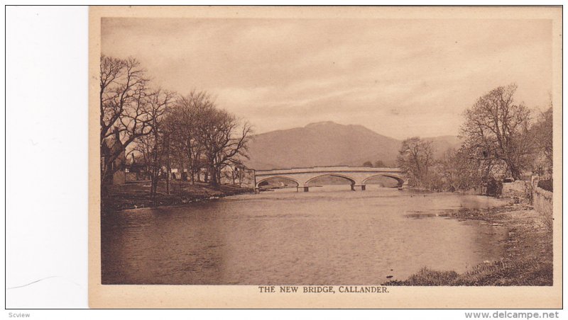
[[[226,166],[242,166],[252,135],[249,122],[219,108],[207,91],[175,93],[152,86],[140,62],[101,56],[100,147],[102,192],[121,168],[126,151],[136,152],[155,196],[160,178],[169,193],[172,168],[195,182],[200,171],[218,187]]]

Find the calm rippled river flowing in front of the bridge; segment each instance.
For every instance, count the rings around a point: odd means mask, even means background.
[[[506,229],[440,216],[502,200],[346,185],[114,212],[103,284],[379,285],[498,260]]]

